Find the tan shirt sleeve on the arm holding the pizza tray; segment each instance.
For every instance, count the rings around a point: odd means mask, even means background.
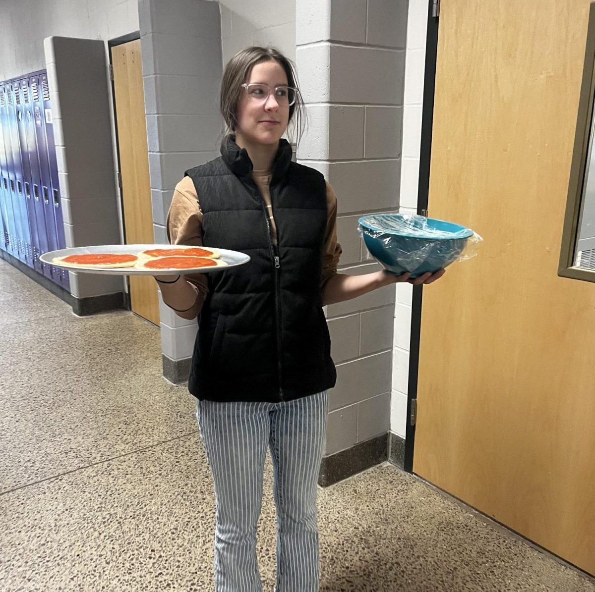
[[[184,177],[176,185],[167,214],[166,229],[170,244],[202,247],[202,212],[190,177]],[[196,310],[198,315],[208,294],[208,281],[203,273],[185,275],[184,279],[196,289],[196,302],[192,311]]]

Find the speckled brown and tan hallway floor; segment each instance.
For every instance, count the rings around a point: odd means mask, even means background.
[[[0,260],[0,590],[212,590],[212,484],[159,332],[77,318]],[[267,462],[259,529],[273,589]],[[319,496],[326,592],[595,592],[390,465]],[[299,591],[296,591],[299,592]]]

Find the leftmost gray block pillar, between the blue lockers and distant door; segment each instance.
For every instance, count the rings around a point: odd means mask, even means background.
[[[44,42],[67,247],[120,243],[104,42]],[[70,274],[73,296],[124,290],[123,279]]]

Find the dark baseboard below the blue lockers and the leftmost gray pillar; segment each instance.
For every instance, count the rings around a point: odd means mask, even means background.
[[[16,257],[13,257],[10,253],[0,250],[0,257],[2,257],[5,262],[10,263],[12,267],[15,267],[20,272],[24,273],[27,278],[32,279],[36,284],[39,284],[42,288],[45,288],[48,292],[51,292],[54,296],[57,296],[60,300],[70,305],[73,309],[73,313],[79,317],[127,308],[126,294],[124,294],[124,292],[90,296],[88,298],[76,298],[70,294],[68,290],[62,288],[62,286],[59,286],[58,284],[54,284],[51,279],[46,278],[45,275],[37,273],[35,269],[31,269],[31,267],[24,264]]]

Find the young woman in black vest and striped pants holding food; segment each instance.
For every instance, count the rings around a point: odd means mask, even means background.
[[[168,215],[172,244],[242,251],[248,264],[157,278],[184,319],[199,316],[189,391],[215,483],[215,589],[260,592],[256,524],[267,447],[278,515],[277,592],[318,590],[316,483],[336,371],[322,306],[409,281],[337,273],[337,199],[292,162],[281,136],[303,113],[289,60],[248,48],[221,85],[221,156],[186,172]],[[355,229],[354,229],[355,232]],[[412,280],[429,284],[443,271]]]

